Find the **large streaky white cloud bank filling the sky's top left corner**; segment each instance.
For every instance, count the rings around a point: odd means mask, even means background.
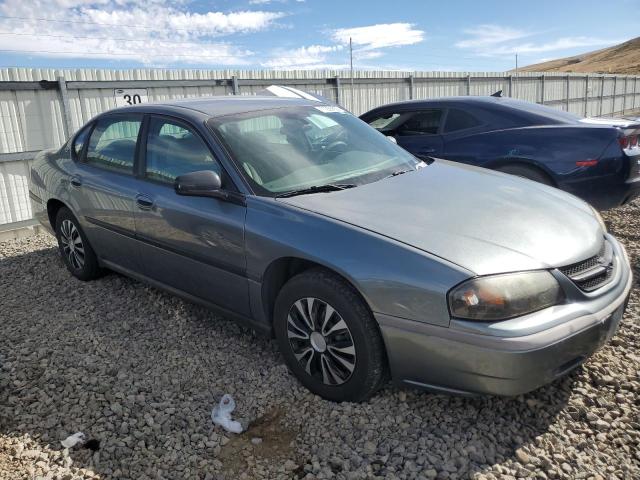
[[[254,52],[224,37],[274,28],[285,16],[252,10],[192,13],[186,8],[190,1],[5,0],[0,31],[12,34],[0,35],[0,49],[147,65],[247,65]]]

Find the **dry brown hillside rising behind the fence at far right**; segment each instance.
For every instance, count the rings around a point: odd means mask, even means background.
[[[640,74],[640,37],[575,57],[528,65],[523,72],[580,72]]]

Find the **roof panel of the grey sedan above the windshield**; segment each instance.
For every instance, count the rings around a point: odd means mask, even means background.
[[[284,98],[275,96],[219,96],[219,97],[198,97],[175,100],[163,100],[160,102],[143,103],[140,105],[127,106],[111,110],[114,112],[157,112],[162,107],[185,108],[195,112],[203,113],[210,117],[221,117],[224,115],[234,115],[258,110],[268,110],[272,108],[314,106],[324,105],[323,102],[309,100],[305,98]]]

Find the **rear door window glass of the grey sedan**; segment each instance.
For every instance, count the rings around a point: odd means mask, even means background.
[[[141,116],[117,115],[98,121],[87,147],[86,162],[106,170],[133,173]]]

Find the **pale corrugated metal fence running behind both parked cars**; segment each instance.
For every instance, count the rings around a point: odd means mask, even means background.
[[[66,104],[57,83],[59,77],[66,86]],[[235,83],[231,80],[234,77]],[[46,88],[35,84],[43,80],[50,82]],[[635,76],[356,71],[352,80],[349,72],[330,70],[5,68],[0,69],[0,224],[31,218],[25,160],[29,155],[20,153],[60,146],[91,117],[115,108],[114,89],[120,85],[146,88],[148,101],[162,101],[232,95],[234,91],[252,95],[265,85],[283,82],[337,101],[355,114],[411,98],[490,95],[497,90],[583,116],[640,108]],[[12,154],[18,154],[19,159]]]

